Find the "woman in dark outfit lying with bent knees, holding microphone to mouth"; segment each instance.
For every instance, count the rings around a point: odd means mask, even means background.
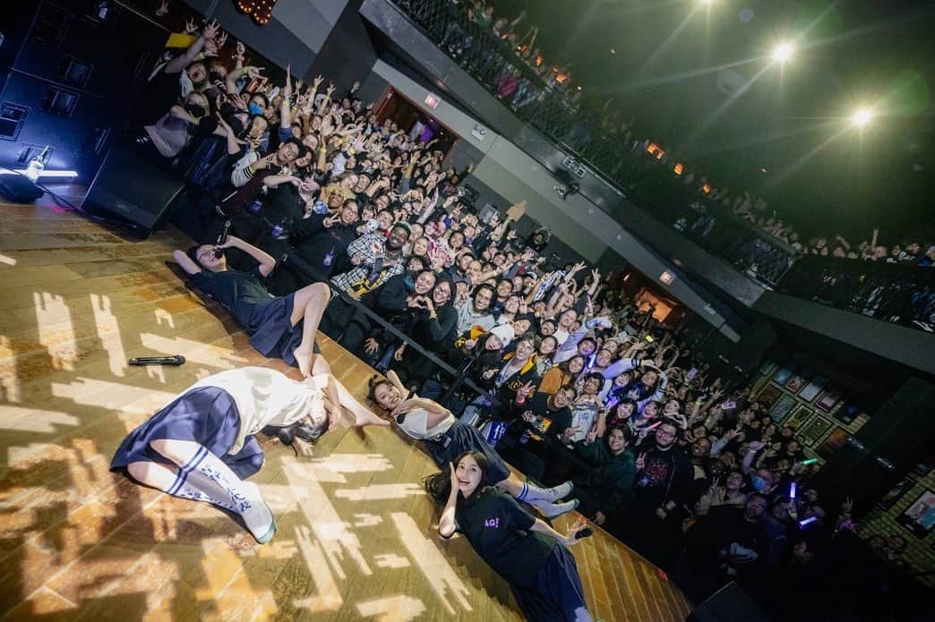
[[[238,248],[256,260],[251,272],[231,270],[224,248]],[[215,252],[218,251],[218,252]],[[276,267],[276,260],[263,250],[228,235],[220,245],[204,244],[176,249],[172,253],[192,283],[233,313],[247,334],[250,345],[263,356],[274,356],[310,375],[315,359],[315,332],[322,319],[331,290],[312,283],[286,296],[273,296],[263,279]]]

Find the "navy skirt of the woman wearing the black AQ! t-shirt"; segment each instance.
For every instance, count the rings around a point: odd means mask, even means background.
[[[513,598],[530,622],[591,620],[578,565],[565,546],[556,546],[530,587],[511,585]]]

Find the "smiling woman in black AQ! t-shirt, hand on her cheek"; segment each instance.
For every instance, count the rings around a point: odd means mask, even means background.
[[[527,620],[589,622],[578,566],[568,551],[587,523],[579,521],[562,535],[488,486],[496,480],[491,468],[484,454],[471,451],[449,463],[448,473],[425,478],[428,494],[445,504],[439,534],[448,539],[455,531],[464,533],[477,554],[510,583]]]

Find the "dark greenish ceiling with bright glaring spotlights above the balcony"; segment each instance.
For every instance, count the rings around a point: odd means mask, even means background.
[[[715,185],[764,196],[805,233],[879,226],[885,244],[935,233],[919,226],[935,222],[935,2],[492,4],[511,19],[525,9],[517,30],[539,26],[536,46],[570,63],[592,102],[612,97],[641,137]],[[797,53],[778,64],[770,54],[784,40]],[[746,84],[739,96],[719,88],[730,79]],[[878,113],[862,131],[849,122],[859,106]]]

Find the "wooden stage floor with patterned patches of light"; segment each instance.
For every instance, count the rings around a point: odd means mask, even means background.
[[[263,441],[271,544],[213,507],[108,471],[127,431],[205,375],[269,365],[165,261],[170,230],[131,241],[49,204],[0,204],[0,616],[6,619],[517,620],[510,590],[463,538],[446,543],[394,431],[343,427],[314,457]],[[363,395],[372,370],[322,340]],[[182,367],[128,367],[182,354]],[[564,530],[574,516],[563,516]],[[605,620],[683,620],[648,562],[597,530],[573,547]]]

